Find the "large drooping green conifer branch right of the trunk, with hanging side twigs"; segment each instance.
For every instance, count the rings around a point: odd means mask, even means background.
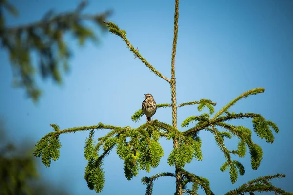
[[[231,160],[231,156],[230,153],[232,154],[238,154],[239,157],[244,157],[245,153],[246,153],[246,146],[245,144],[247,144],[247,146],[249,147],[249,152],[250,152],[250,156],[251,156],[251,167],[252,169],[257,169],[260,165],[260,162],[262,160],[262,149],[260,146],[258,146],[257,144],[253,143],[251,140],[251,130],[243,127],[243,126],[234,126],[234,125],[230,125],[230,124],[226,124],[222,121],[227,121],[230,119],[238,119],[238,118],[244,118],[244,117],[253,117],[253,126],[254,126],[254,131],[257,133],[257,135],[260,138],[265,138],[267,140],[267,142],[272,143],[274,140],[274,137],[272,135],[272,131],[269,129],[269,125],[273,126],[272,128],[275,129],[276,132],[278,132],[278,127],[273,123],[271,123],[271,121],[267,122],[265,121],[264,117],[262,117],[259,114],[255,114],[255,113],[239,113],[239,114],[235,114],[235,113],[229,113],[226,112],[227,116],[222,116],[222,117],[218,117],[215,120],[209,120],[206,117],[201,118],[200,116],[192,116],[192,117],[188,117],[185,121],[183,121],[182,126],[187,126],[190,121],[193,120],[198,120],[199,123],[193,128],[193,130],[195,128],[203,128],[206,129],[208,131],[210,131],[211,133],[213,133],[215,135],[215,140],[217,142],[217,145],[219,146],[221,152],[224,153],[224,157],[226,158],[227,162],[225,162],[222,167],[221,167],[221,171],[225,171],[228,166],[230,167],[229,169],[229,174],[230,174],[230,179],[232,183],[235,183],[237,178],[238,178],[238,173],[237,173],[237,169],[240,173],[240,175],[243,175],[245,170],[243,165],[238,162],[238,161],[232,161]],[[205,115],[205,114],[203,114]],[[208,115],[208,114],[207,114]],[[216,130],[216,128],[214,127],[215,125],[224,127],[226,129],[228,129],[233,135],[237,136],[241,141],[238,143],[238,150],[233,150],[233,151],[229,151],[225,145],[224,145],[224,137],[228,137],[231,138],[230,133],[228,132],[219,132]],[[209,126],[211,126],[212,128],[209,128]],[[188,131],[186,131],[188,132]],[[183,135],[189,135],[186,134],[186,132],[183,132]],[[190,131],[191,133],[194,133],[194,131]],[[190,133],[189,132],[189,133]]]

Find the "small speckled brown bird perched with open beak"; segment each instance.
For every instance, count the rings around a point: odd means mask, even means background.
[[[143,110],[143,113],[146,115],[146,122],[149,122],[151,117],[153,121],[153,115],[157,111],[157,104],[154,100],[154,97],[151,94],[144,94],[144,95],[145,95],[145,100],[142,103],[142,110]]]

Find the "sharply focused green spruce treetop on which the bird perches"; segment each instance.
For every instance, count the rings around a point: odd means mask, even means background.
[[[168,164],[174,167],[173,173],[162,172],[157,173],[151,177],[143,177],[142,183],[146,185],[146,195],[151,195],[153,192],[154,181],[159,177],[174,177],[176,180],[175,195],[182,195],[184,193],[190,195],[197,195],[199,187],[201,187],[207,195],[214,195],[209,186],[207,178],[197,176],[184,169],[187,163],[190,163],[193,158],[195,160],[202,160],[203,155],[201,151],[201,138],[199,132],[202,130],[210,132],[215,139],[220,151],[223,153],[226,161],[221,166],[221,171],[228,171],[230,174],[230,181],[235,183],[238,175],[244,175],[244,166],[234,158],[232,155],[244,157],[248,153],[251,158],[251,167],[257,170],[260,166],[263,157],[262,148],[253,142],[251,138],[252,131],[244,126],[235,126],[227,122],[235,119],[250,118],[253,123],[253,131],[261,139],[265,139],[268,143],[274,142],[274,133],[278,133],[277,125],[266,120],[262,115],[257,113],[234,113],[230,112],[231,106],[242,98],[247,98],[251,95],[263,93],[264,88],[255,88],[248,90],[237,98],[230,101],[222,109],[215,112],[215,102],[209,99],[200,99],[199,101],[185,102],[177,104],[176,101],[176,78],[175,78],[175,55],[178,35],[178,17],[179,17],[179,0],[175,0],[175,15],[174,15],[174,39],[172,47],[171,59],[171,78],[165,77],[161,72],[156,70],[146,59],[142,57],[138,49],[134,47],[126,38],[126,31],[120,29],[112,22],[104,23],[108,30],[123,39],[128,49],[134,54],[135,58],[140,59],[156,76],[162,78],[170,84],[171,88],[171,103],[158,104],[158,108],[172,108],[172,125],[154,120],[142,124],[137,128],[130,126],[119,127],[112,125],[105,125],[99,123],[93,126],[74,127],[68,129],[60,129],[57,124],[51,124],[54,129],[53,132],[46,134],[35,145],[34,155],[41,157],[42,163],[49,167],[51,161],[56,161],[59,158],[61,143],[59,137],[64,133],[74,133],[77,131],[88,131],[89,136],[85,140],[84,157],[88,161],[85,168],[84,179],[87,182],[88,188],[95,190],[97,193],[103,190],[105,175],[103,171],[103,160],[115,148],[117,156],[124,161],[124,174],[127,180],[131,180],[137,176],[139,170],[146,170],[150,172],[151,168],[159,165],[160,159],[163,156],[163,149],[160,145],[159,139],[166,138],[173,142],[173,150],[168,156]],[[179,131],[177,128],[177,108],[197,105],[198,111],[202,111],[204,107],[208,108],[209,113],[203,113],[199,116],[190,116],[186,118],[182,124],[184,131]],[[215,113],[215,114],[214,114]],[[131,119],[134,122],[140,120],[143,116],[141,109],[137,110]],[[193,125],[192,125],[193,123]],[[194,125],[195,123],[195,125]],[[223,131],[219,129],[224,129]],[[94,140],[94,133],[100,129],[109,129],[109,133],[104,137]],[[230,150],[225,146],[225,138],[238,138],[238,146],[236,150]],[[234,156],[233,156],[234,157]],[[240,187],[231,190],[226,195],[254,195],[255,192],[273,192],[276,195],[289,195],[288,193],[272,185],[271,180],[274,178],[285,177],[284,174],[275,174],[270,176],[262,176],[253,179]],[[191,183],[192,187],[188,189],[187,184]]]

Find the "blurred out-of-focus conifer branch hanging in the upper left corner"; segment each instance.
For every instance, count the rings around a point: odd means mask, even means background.
[[[74,11],[54,14],[48,11],[42,20],[35,23],[16,27],[5,25],[4,10],[13,16],[18,15],[17,9],[8,2],[0,0],[0,41],[1,46],[8,50],[13,71],[13,85],[25,88],[29,98],[38,101],[41,89],[36,85],[35,75],[42,78],[51,77],[53,81],[62,82],[61,67],[68,71],[68,59],[71,52],[65,43],[64,35],[72,34],[80,45],[90,39],[96,42],[97,35],[85,25],[91,21],[98,27],[105,29],[103,20],[111,12],[101,14],[82,14],[86,2],[82,2]],[[38,57],[38,64],[33,64],[32,53]]]

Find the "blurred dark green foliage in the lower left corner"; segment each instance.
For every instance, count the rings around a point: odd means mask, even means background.
[[[17,147],[9,142],[0,120],[0,195],[69,195],[40,178],[28,145],[24,142]]]

